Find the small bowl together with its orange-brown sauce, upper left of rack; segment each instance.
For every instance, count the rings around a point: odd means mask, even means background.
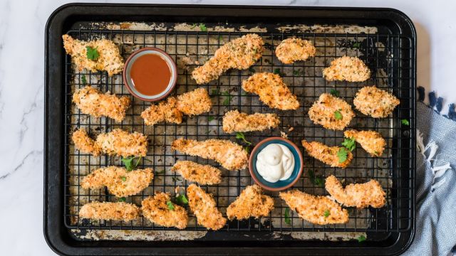
[[[158,48],[136,50],[125,61],[123,82],[128,91],[140,100],[162,100],[172,92],[176,80],[175,61]]]

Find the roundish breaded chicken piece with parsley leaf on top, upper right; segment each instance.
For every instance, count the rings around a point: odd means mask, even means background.
[[[345,100],[323,93],[309,109],[309,118],[326,129],[343,130],[355,113]]]

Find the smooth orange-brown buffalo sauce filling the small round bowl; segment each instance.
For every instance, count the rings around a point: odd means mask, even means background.
[[[143,95],[157,95],[166,90],[171,80],[170,66],[160,55],[138,57],[130,70],[133,86]]]

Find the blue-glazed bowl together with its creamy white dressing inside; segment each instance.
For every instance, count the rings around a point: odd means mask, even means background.
[[[303,171],[303,157],[293,142],[270,137],[254,147],[249,159],[250,175],[269,191],[282,191],[296,183]]]

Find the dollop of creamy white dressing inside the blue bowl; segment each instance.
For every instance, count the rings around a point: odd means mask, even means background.
[[[257,155],[257,171],[269,182],[284,181],[294,169],[294,156],[282,144],[269,144]]]

